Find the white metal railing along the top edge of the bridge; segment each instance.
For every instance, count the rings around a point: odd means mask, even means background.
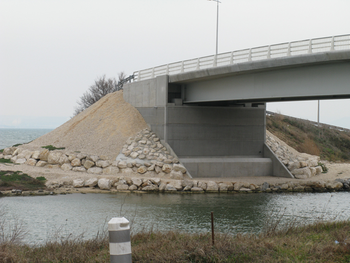
[[[247,61],[257,61],[291,55],[311,54],[332,50],[350,49],[350,35],[338,35],[271,46],[243,49],[192,60],[184,60],[159,67],[134,72],[134,80],[153,79],[161,75],[173,75],[204,68],[212,68]]]

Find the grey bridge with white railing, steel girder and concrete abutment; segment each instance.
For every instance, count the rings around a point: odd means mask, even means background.
[[[350,35],[134,72],[124,99],[193,177],[291,177],[265,144],[266,102],[350,98]]]

